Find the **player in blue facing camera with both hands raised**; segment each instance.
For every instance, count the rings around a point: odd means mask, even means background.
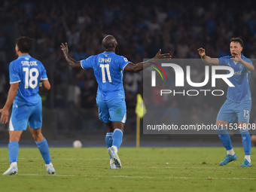
[[[245,159],[241,166],[251,166],[251,137],[248,132],[248,121],[251,111],[249,78],[251,72],[254,71],[254,66],[252,65],[251,59],[246,58],[241,53],[242,39],[230,39],[231,56],[223,56],[216,59],[206,56],[206,51],[202,47],[198,51],[204,62],[212,65],[230,66],[234,70],[234,75],[229,78],[229,81],[234,87],[228,87],[227,100],[218,112],[216,120],[218,136],[227,150],[227,155],[220,163],[220,166],[237,159],[231,145],[230,136],[225,129],[228,123],[233,123],[236,120],[236,117],[238,117],[238,128],[245,150]]]

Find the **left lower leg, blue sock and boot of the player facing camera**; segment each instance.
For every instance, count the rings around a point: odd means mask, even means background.
[[[237,156],[235,152],[233,151],[233,147],[231,145],[231,139],[230,135],[227,133],[226,127],[229,122],[226,120],[216,120],[216,126],[217,128],[217,133],[219,138],[221,139],[222,144],[227,150],[227,155],[224,158],[223,161],[221,161],[220,166],[224,166],[227,163],[230,163],[230,161],[237,160]]]

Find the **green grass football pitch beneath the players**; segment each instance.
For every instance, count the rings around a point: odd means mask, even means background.
[[[121,169],[109,169],[107,148],[50,148],[56,175],[47,175],[37,148],[20,148],[18,174],[0,176],[0,191],[256,191],[256,148],[251,167],[238,160],[218,166],[224,148],[120,148]],[[0,148],[0,172],[8,169]]]

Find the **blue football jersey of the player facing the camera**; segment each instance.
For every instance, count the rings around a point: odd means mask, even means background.
[[[218,62],[221,66],[230,66],[234,70],[234,75],[228,79],[235,87],[227,88],[227,99],[230,99],[232,102],[251,100],[251,90],[249,85],[251,71],[246,69],[242,63],[234,62],[230,59],[232,57],[233,56],[223,56],[218,58]],[[243,55],[241,58],[252,64],[251,59],[248,59]],[[227,71],[227,73],[230,72]]]

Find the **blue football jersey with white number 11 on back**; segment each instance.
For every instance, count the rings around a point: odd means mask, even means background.
[[[103,52],[81,60],[83,69],[93,69],[98,82],[97,99],[124,99],[123,69],[129,62],[114,52]]]

